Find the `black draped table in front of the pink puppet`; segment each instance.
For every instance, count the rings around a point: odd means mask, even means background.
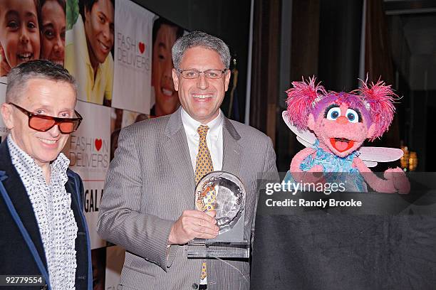
[[[435,190],[309,198],[353,198],[359,208],[266,206],[286,198],[305,197],[260,193],[251,289],[436,289]]]

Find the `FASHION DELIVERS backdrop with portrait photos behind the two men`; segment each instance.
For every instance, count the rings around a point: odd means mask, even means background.
[[[95,229],[105,176],[121,128],[148,119],[150,113],[170,114],[180,106],[172,84],[171,48],[186,31],[130,0],[95,1],[90,14],[84,9],[86,0],[43,1],[41,7],[35,1],[26,1],[24,6],[21,2],[2,2],[0,10],[18,11],[20,17],[31,15],[38,26],[26,27],[31,44],[31,56],[26,59],[43,58],[63,65],[78,82],[76,109],[83,123],[71,134],[63,153],[83,179],[83,205],[93,249],[93,289],[117,289],[125,250],[106,248],[107,242]],[[6,97],[7,73],[22,61],[14,57],[19,45],[6,45],[18,39],[11,36],[0,36],[0,104]],[[0,117],[0,141],[7,134]]]

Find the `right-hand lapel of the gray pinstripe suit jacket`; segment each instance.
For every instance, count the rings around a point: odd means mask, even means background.
[[[239,166],[241,165],[242,146],[237,142],[241,139],[232,123],[224,117],[222,124],[223,156],[222,171],[228,171],[235,176],[240,176]]]

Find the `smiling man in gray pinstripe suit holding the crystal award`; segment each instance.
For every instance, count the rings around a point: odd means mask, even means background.
[[[172,60],[182,107],[121,131],[98,232],[127,250],[123,289],[249,289],[248,259],[187,259],[185,247],[218,235],[215,212],[194,209],[194,188],[220,170],[246,187],[244,240],[251,240],[259,173],[278,179],[271,139],[219,109],[230,80],[224,41],[194,31],[176,41]]]

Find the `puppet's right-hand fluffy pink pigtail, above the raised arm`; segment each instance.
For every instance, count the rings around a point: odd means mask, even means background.
[[[362,83],[363,85],[358,91],[370,106],[370,116],[375,124],[375,132],[370,139],[370,141],[373,141],[375,138],[382,136],[385,131],[388,131],[395,112],[393,103],[395,99],[398,99],[398,95],[393,92],[390,85],[385,85],[385,82],[380,79],[375,85],[371,82],[370,87],[366,82],[362,81]]]

